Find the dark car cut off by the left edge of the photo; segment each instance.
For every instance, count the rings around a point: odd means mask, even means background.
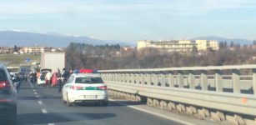
[[[7,67],[0,65],[0,124],[16,124],[17,90]]]

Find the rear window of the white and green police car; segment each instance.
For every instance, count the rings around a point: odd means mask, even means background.
[[[101,77],[77,77],[75,83],[84,83],[84,84],[103,83],[103,79]]]

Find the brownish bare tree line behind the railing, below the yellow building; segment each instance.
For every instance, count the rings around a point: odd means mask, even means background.
[[[68,68],[125,69],[157,67],[194,67],[253,64],[256,46],[219,42],[219,50],[204,52],[164,52],[154,48],[126,51],[120,45],[93,46],[71,42],[66,49]]]

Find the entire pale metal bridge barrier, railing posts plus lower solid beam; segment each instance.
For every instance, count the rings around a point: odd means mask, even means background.
[[[236,65],[98,72],[109,89],[256,116],[255,69],[256,65]],[[227,70],[230,74],[223,75]],[[241,75],[241,70],[250,73]]]

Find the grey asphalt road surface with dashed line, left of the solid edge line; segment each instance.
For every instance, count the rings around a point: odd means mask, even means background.
[[[38,87],[23,82],[18,92],[18,124],[48,125],[178,125],[168,119],[109,102],[108,107],[93,103],[68,107],[58,87]]]

